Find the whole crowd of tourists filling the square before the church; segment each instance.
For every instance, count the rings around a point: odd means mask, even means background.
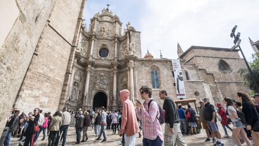
[[[21,113],[16,108],[11,110],[5,131],[7,136],[4,145],[10,145],[11,136],[20,137],[21,145],[36,145],[39,135],[43,133],[48,145],[63,146],[67,142],[67,132],[71,119],[75,119],[76,143],[88,140],[88,130],[94,130],[97,141],[107,141],[106,130],[122,137],[123,145],[135,145],[136,137],[143,136],[143,146],[146,145],[187,145],[183,134],[197,134],[198,121],[205,129],[205,142],[213,145],[224,145],[218,123],[224,130],[224,138],[229,138],[227,129],[232,132],[232,138],[238,146],[246,142],[251,146],[259,145],[259,94],[250,98],[247,94],[238,92],[236,99],[224,98],[222,103],[210,102],[209,98],[199,100],[200,107],[196,112],[190,104],[179,105],[167,95],[165,90],[159,92],[163,105],[158,105],[152,98],[152,90],[148,86],[139,89],[141,103],[130,99],[130,92],[122,90],[119,93],[122,102],[121,111],[106,111],[104,107],[96,109],[78,109],[74,114],[66,107],[62,111],[43,114],[39,108],[28,114]],[[20,114],[20,115],[19,115]],[[217,123],[217,121],[219,121]],[[186,124],[188,123],[188,125]],[[161,125],[164,124],[164,133]],[[232,125],[232,126],[231,126]],[[82,133],[82,135],[81,135]],[[103,139],[102,139],[103,138]]]

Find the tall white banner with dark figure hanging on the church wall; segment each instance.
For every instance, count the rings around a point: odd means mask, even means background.
[[[186,98],[184,89],[183,73],[179,60],[172,60],[172,68],[174,69],[176,80],[176,96],[177,98]]]

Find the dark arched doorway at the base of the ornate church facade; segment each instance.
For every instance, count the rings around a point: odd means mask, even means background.
[[[98,92],[94,96],[93,109],[98,109],[102,106],[107,107],[107,96],[103,92]]]

